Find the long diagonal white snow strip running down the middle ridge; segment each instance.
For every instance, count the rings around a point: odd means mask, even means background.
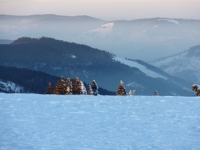
[[[146,66],[143,66],[137,62],[134,62],[134,61],[130,61],[130,60],[127,60],[127,59],[123,59],[123,58],[119,58],[119,57],[113,57],[113,60],[115,61],[119,61],[121,62],[122,64],[125,64],[125,65],[128,65],[130,67],[135,67],[135,68],[138,68],[139,70],[141,70],[143,73],[145,73],[147,76],[150,76],[152,78],[162,78],[162,79],[165,79],[167,80],[167,77],[165,76],[162,76],[156,72],[153,72],[152,70],[149,70]]]

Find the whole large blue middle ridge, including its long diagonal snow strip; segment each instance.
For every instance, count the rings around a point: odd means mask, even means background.
[[[52,38],[19,38],[9,45],[0,45],[0,64],[16,66],[51,75],[75,78],[117,91],[123,80],[129,91],[138,95],[193,95],[190,82],[172,77],[143,61],[122,59],[106,51],[86,45]]]

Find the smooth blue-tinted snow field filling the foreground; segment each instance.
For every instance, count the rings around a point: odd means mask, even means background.
[[[1,150],[199,150],[200,98],[0,94]]]

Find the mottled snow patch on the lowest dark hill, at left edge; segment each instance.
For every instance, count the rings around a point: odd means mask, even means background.
[[[16,85],[13,82],[10,82],[10,81],[4,82],[0,80],[0,89],[4,91],[8,91],[8,92],[10,91],[10,92],[19,93],[19,92],[22,92],[24,88]]]

